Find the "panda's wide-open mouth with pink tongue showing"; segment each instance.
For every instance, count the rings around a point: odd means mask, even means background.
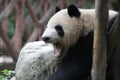
[[[63,55],[63,45],[60,42],[56,42],[54,43],[54,48],[55,48],[55,52],[54,52],[55,58],[61,58],[61,56]]]

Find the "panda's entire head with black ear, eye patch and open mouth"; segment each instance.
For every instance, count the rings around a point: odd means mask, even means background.
[[[74,5],[57,12],[49,20],[47,28],[42,35],[46,43],[55,46],[55,57],[65,57],[67,50],[78,40],[81,33],[80,11]]]

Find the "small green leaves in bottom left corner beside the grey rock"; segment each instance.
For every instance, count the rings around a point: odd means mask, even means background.
[[[15,71],[4,69],[0,71],[0,80],[10,80],[15,75]]]

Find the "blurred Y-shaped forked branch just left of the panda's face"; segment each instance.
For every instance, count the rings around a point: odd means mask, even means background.
[[[29,2],[26,2],[26,6],[36,26],[34,32],[32,33],[31,37],[27,41],[27,42],[31,42],[31,41],[35,41],[38,37],[42,36],[42,33],[44,31],[43,26],[47,23],[50,17],[55,13],[55,5],[54,4],[51,5],[50,9],[48,10],[48,12],[46,12],[45,16],[40,20],[40,22],[38,22],[38,19],[33,13],[32,8],[30,8]]]

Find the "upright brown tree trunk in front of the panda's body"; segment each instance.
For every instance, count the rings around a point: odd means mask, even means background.
[[[107,23],[108,23],[108,1],[96,0],[95,2],[95,27],[93,45],[92,80],[106,79],[106,55],[107,55]]]

